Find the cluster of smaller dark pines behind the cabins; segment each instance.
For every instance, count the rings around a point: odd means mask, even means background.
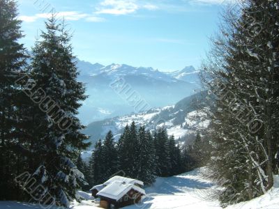
[[[199,134],[193,146],[180,147],[164,128],[151,134],[133,122],[126,125],[117,142],[112,132],[108,132],[103,141],[96,142],[89,164],[79,157],[77,167],[90,187],[104,183],[112,175],[136,178],[151,185],[156,176],[174,176],[199,167],[204,157],[202,146],[206,145]]]

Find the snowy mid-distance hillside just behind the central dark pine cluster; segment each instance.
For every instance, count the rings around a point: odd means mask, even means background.
[[[144,125],[146,129],[151,131],[164,126],[169,135],[174,135],[177,143],[183,143],[184,141],[190,143],[195,139],[197,129],[202,130],[209,125],[209,121],[207,121],[206,115],[202,111],[206,107],[199,102],[203,96],[203,92],[196,93],[167,107],[153,108],[138,114],[128,114],[96,121],[90,123],[84,133],[91,136],[92,146],[98,139],[103,139],[109,130],[112,130],[114,139],[117,141],[124,127],[135,121],[136,125]],[[86,152],[84,155],[86,155]]]

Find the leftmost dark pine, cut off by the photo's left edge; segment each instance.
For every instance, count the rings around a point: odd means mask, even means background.
[[[23,86],[16,85],[25,72],[27,58],[19,43],[23,37],[20,24],[15,1],[0,0],[0,199],[20,199],[20,188],[13,179],[28,169],[24,159],[29,142],[21,133]]]

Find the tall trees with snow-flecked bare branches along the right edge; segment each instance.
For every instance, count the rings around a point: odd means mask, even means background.
[[[204,63],[211,177],[224,206],[266,193],[278,173],[278,1],[246,0],[223,15]]]

